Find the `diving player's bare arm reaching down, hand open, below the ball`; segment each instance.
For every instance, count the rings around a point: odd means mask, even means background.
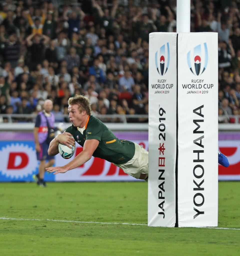
[[[60,166],[48,167],[46,168],[47,172],[49,173],[54,172],[54,174],[66,173],[68,170],[77,168],[78,166],[86,163],[91,159],[98,144],[99,144],[98,140],[95,140],[95,139],[86,140],[83,145],[83,151],[80,154],[78,154],[71,162],[69,162],[68,164],[62,167]]]

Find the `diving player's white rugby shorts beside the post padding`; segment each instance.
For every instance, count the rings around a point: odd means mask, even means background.
[[[138,179],[141,173],[148,173],[148,151],[142,146],[135,144],[135,154],[131,160],[125,164],[114,164],[134,178]]]

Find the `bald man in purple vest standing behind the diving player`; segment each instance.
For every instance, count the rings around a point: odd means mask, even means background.
[[[34,179],[37,181],[38,185],[46,187],[46,182],[43,180],[45,168],[53,166],[55,163],[54,156],[49,156],[47,153],[50,141],[54,138],[55,118],[54,114],[51,113],[51,110],[53,109],[53,102],[51,100],[45,100],[43,108],[44,110],[39,112],[36,117],[34,128],[37,160],[40,160],[39,173],[34,175]],[[48,160],[47,163],[46,160]]]

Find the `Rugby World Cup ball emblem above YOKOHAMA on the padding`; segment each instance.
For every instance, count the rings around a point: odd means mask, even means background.
[[[199,76],[205,71],[208,65],[207,43],[204,43],[203,45],[197,45],[193,48],[193,52],[189,51],[187,53],[187,64],[195,76]],[[192,68],[193,64],[195,70]]]

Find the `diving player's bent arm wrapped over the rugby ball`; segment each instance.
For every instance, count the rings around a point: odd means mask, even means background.
[[[58,152],[58,144],[64,144],[67,145],[69,148],[72,148],[72,146],[75,145],[74,138],[71,137],[72,134],[69,132],[64,132],[62,134],[58,134],[51,142],[48,148],[48,155],[49,156],[55,156]]]

